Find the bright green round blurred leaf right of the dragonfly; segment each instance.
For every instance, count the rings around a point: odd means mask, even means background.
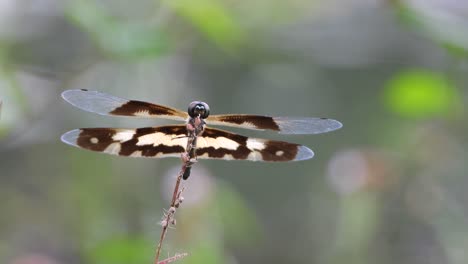
[[[389,110],[405,117],[444,116],[459,105],[451,83],[442,74],[427,70],[396,74],[386,84],[384,96]]]

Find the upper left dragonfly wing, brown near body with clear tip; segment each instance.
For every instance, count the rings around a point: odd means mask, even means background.
[[[185,121],[188,114],[163,105],[127,100],[106,93],[88,90],[67,90],[63,99],[82,110],[100,115],[159,117]]]

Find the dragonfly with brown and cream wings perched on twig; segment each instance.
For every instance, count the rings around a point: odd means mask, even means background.
[[[249,114],[210,115],[208,104],[194,101],[188,111],[128,100],[98,91],[66,90],[63,99],[84,111],[109,116],[163,118],[185,124],[143,128],[80,128],[66,132],[61,140],[69,145],[107,154],[165,158],[180,157],[186,151],[190,124],[198,120],[201,131],[193,146],[196,159],[285,162],[307,160],[314,152],[306,146],[269,139],[247,137],[211,128],[211,125],[281,134],[319,134],[342,127],[339,121],[314,117],[271,117]]]

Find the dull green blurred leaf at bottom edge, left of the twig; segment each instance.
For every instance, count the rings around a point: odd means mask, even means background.
[[[154,242],[140,238],[113,238],[103,241],[89,252],[92,263],[152,263]]]

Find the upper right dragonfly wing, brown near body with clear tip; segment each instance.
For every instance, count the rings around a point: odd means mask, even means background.
[[[342,124],[329,118],[271,117],[258,115],[212,115],[209,125],[232,126],[256,130],[273,130],[281,134],[319,134],[333,131]]]

